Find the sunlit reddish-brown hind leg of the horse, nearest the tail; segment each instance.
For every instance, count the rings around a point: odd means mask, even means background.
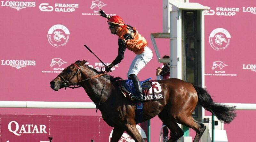
[[[204,133],[204,130],[206,129],[206,126],[203,123],[197,122],[192,116],[179,119],[179,121],[180,124],[192,128],[196,131],[196,137],[194,138],[193,142],[199,142]]]

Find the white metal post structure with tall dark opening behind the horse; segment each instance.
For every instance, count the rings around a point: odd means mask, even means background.
[[[170,63],[171,78],[179,78],[189,83],[204,87],[203,11],[209,9],[209,7],[198,3],[184,3],[184,1],[179,0],[163,0],[163,7],[164,33],[151,34],[151,40],[158,62]],[[193,26],[190,26],[189,24]],[[192,30],[189,29],[191,27],[193,28]],[[191,34],[192,36],[189,37],[188,35]],[[155,38],[170,39],[170,59],[161,58]],[[191,57],[190,60],[188,60],[188,52],[193,52],[193,57]],[[197,121],[202,122],[204,118],[204,108],[198,106],[194,114],[194,118]],[[189,128],[185,126],[182,128],[184,136],[189,136]]]

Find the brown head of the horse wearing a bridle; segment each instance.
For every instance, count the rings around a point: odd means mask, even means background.
[[[71,85],[76,85],[81,79],[81,68],[87,61],[76,61],[75,63],[69,65],[65,68],[56,78],[54,78],[50,84],[51,88],[58,91],[61,88],[68,87]]]

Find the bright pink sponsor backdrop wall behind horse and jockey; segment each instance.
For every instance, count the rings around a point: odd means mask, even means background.
[[[208,15],[205,15],[207,90],[216,102],[255,103],[256,63],[253,38],[256,33],[255,1],[190,0],[190,2],[211,7]],[[16,3],[14,6],[10,1],[1,1],[1,101],[91,102],[83,89],[66,91],[61,89],[55,92],[52,91],[49,83],[59,71],[76,60],[89,60],[89,65],[94,68],[100,67],[97,58],[84,48],[84,44],[105,63],[111,63],[115,59],[118,49],[117,36],[110,34],[106,19],[97,15],[98,6],[102,6],[107,14],[121,16],[125,24],[136,27],[147,39],[148,46],[154,50],[150,34],[162,32],[161,1],[104,0],[101,3],[99,1],[94,3],[96,7],[91,9],[92,1],[36,1],[27,2],[26,5]],[[70,7],[64,4],[69,4]],[[64,35],[66,39],[55,36],[54,40],[54,34],[58,34],[54,33],[55,31],[62,32],[59,34]],[[222,35],[226,42],[210,43],[210,40],[214,41],[211,36],[216,35]],[[157,40],[157,45],[161,56],[170,54],[168,40]],[[222,49],[218,50],[214,47]],[[127,50],[124,56],[124,60],[110,73],[112,76],[126,78],[127,70],[135,55]],[[54,61],[58,63],[54,64]],[[27,65],[20,66],[23,62]],[[156,79],[155,71],[158,66],[160,67],[161,64],[157,62],[154,54],[148,65],[140,71],[139,78]],[[101,115],[99,112],[95,114],[95,109],[33,108],[0,108],[0,114]],[[206,112],[206,115],[211,114]],[[250,120],[254,120],[255,116],[253,110],[239,110],[236,119],[224,126],[228,140],[251,141],[255,131],[254,124]],[[157,117],[153,118],[151,141],[159,140],[160,127],[160,120]],[[241,131],[245,130],[244,128],[246,131]],[[194,131],[191,131],[191,135],[194,135]]]

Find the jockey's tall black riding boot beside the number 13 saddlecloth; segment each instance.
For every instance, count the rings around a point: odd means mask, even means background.
[[[141,89],[140,81],[138,77],[136,76],[136,74],[131,74],[130,77],[132,79],[132,83],[136,92],[136,94],[133,94],[131,98],[143,101],[143,93],[142,93],[142,89]]]

